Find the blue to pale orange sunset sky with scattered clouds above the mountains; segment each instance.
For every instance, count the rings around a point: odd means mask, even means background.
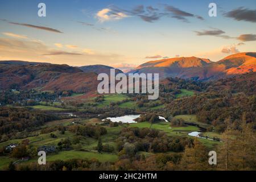
[[[181,56],[218,61],[255,47],[255,0],[0,0],[0,60],[134,68]]]

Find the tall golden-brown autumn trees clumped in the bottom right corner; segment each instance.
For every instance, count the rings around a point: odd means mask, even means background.
[[[218,147],[217,165],[221,170],[254,170],[256,168],[256,134],[253,123],[246,123],[241,130],[230,129],[222,134],[222,144]]]

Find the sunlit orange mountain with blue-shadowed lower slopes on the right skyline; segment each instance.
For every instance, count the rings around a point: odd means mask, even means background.
[[[198,57],[175,57],[149,61],[130,73],[159,73],[160,78],[180,77],[196,80],[217,79],[256,71],[256,53],[243,52],[212,62]]]

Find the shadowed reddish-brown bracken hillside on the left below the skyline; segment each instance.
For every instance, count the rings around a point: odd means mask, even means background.
[[[97,74],[58,64],[0,64],[0,89],[73,90],[94,92]]]

